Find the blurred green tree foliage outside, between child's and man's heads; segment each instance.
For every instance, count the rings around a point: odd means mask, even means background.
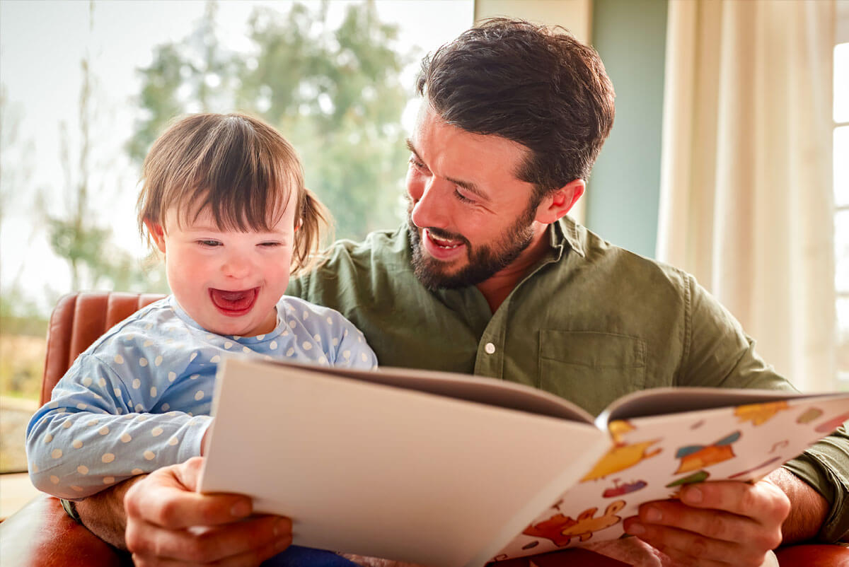
[[[251,15],[251,53],[215,34],[215,4],[181,42],[161,45],[140,70],[143,117],[128,144],[139,163],[177,115],[239,110],[259,115],[301,154],[306,184],[328,205],[339,238],[395,227],[401,220],[407,150],[400,74],[412,55],[391,49],[397,26],[373,3],[347,8],[332,29],[328,5],[269,8]]]

